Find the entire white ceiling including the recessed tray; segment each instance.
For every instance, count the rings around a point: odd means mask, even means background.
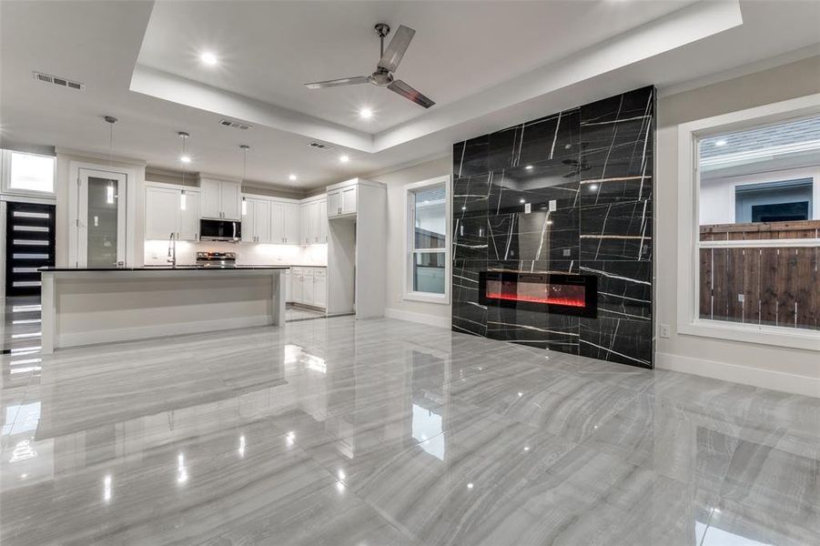
[[[673,11],[683,6],[680,11]],[[178,168],[317,187],[625,89],[675,86],[820,42],[820,3],[646,2],[0,2],[0,138],[115,153]],[[398,76],[437,101],[301,84],[372,71],[378,21],[417,34]],[[643,25],[641,25],[643,23]],[[205,70],[198,53],[220,63]],[[79,80],[77,92],[37,70]],[[453,75],[453,77],[447,77]],[[138,92],[135,92],[138,91]],[[376,110],[371,122],[355,115]],[[225,116],[249,131],[218,126]],[[332,153],[307,145],[319,138]],[[351,161],[341,165],[338,156]],[[299,180],[290,182],[291,172]]]

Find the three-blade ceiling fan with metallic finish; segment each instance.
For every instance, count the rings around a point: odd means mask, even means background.
[[[410,40],[413,39],[413,35],[416,34],[416,31],[409,26],[400,25],[399,30],[396,31],[396,35],[394,35],[393,39],[390,40],[390,45],[388,45],[387,49],[385,49],[384,38],[390,34],[390,26],[384,23],[379,23],[375,26],[375,29],[376,34],[379,35],[381,40],[381,59],[379,64],[376,66],[376,72],[370,76],[343,77],[325,82],[313,82],[311,84],[305,84],[305,86],[309,89],[321,89],[323,87],[373,84],[374,86],[387,87],[393,93],[398,93],[400,96],[413,101],[419,106],[424,106],[425,108],[429,108],[430,106],[436,104],[430,100],[429,97],[422,95],[413,87],[407,85],[399,79],[395,79],[392,74],[396,71],[396,68],[399,67],[401,57],[403,57],[404,53],[407,51],[407,47],[410,45]]]

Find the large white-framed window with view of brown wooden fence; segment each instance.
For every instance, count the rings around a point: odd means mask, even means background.
[[[679,332],[820,349],[820,115],[801,100],[679,126]]]

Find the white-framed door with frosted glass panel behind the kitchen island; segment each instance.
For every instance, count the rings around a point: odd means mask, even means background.
[[[126,185],[124,173],[80,168],[72,226],[77,268],[126,265]]]

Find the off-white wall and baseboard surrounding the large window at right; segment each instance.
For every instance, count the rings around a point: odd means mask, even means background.
[[[677,126],[704,117],[820,93],[820,56],[693,89],[658,102],[655,234],[657,324],[671,325],[658,339],[657,363],[700,375],[820,396],[820,353],[676,334]],[[795,386],[795,389],[789,388]],[[816,391],[816,392],[815,392]]]

